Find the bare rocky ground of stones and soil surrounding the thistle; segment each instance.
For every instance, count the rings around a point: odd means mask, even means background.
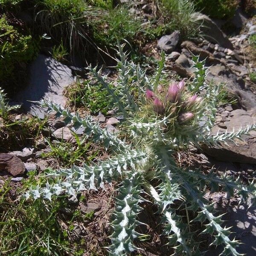
[[[144,11],[148,6],[143,5]],[[212,134],[223,133],[244,127],[248,122],[256,122],[256,84],[249,78],[249,73],[256,72],[255,56],[249,50],[248,37],[256,33],[256,23],[253,19],[248,20],[240,12],[236,15],[234,23],[239,30],[232,36],[227,36],[220,29],[218,23],[205,15],[198,15],[198,21],[206,24],[202,31],[204,38],[193,41],[181,41],[180,32],[175,31],[171,35],[165,35],[157,42],[151,42],[142,50],[147,57],[159,58],[162,49],[167,54],[166,72],[172,77],[189,79],[192,76],[192,54],[200,55],[206,59],[209,67],[207,79],[209,82],[224,82],[227,94],[236,99],[235,104],[223,104],[217,110],[217,122]],[[150,67],[148,68],[150,71]],[[68,105],[69,101],[64,95],[66,87],[72,86],[77,79],[77,74],[83,73],[80,67],[68,67],[53,58],[40,54],[30,67],[30,80],[28,86],[20,91],[11,104],[22,104],[22,113],[15,113],[13,119],[22,120],[36,115],[43,119],[44,111],[38,108],[35,101],[42,98],[52,99],[62,105]],[[108,73],[108,69],[106,71]],[[114,76],[111,72],[111,76]],[[73,106],[72,106],[73,107]],[[81,110],[83,111],[83,110]],[[118,123],[122,116],[116,116],[115,110],[107,110],[108,114],[99,113],[95,116],[103,127],[110,131],[118,132]],[[86,112],[84,112],[86,114]],[[59,166],[60,162],[54,154],[52,145],[58,143],[70,143],[70,151],[77,148],[77,141],[71,127],[66,127],[62,120],[55,121],[47,118],[40,136],[36,141],[23,144],[23,147],[1,148],[0,169],[1,180],[11,177],[12,183],[20,183],[27,178],[27,172],[42,172],[46,168]],[[75,130],[74,130],[75,131]],[[79,136],[83,131],[75,131]],[[47,143],[47,141],[50,143]],[[96,148],[89,148],[89,152],[95,152]],[[256,171],[256,132],[244,137],[244,141],[233,145],[220,145],[218,148],[202,148],[201,151],[191,149],[189,154],[193,161],[205,169],[214,166],[218,172],[226,172],[227,175],[239,177],[244,182],[255,178]],[[104,158],[106,156],[100,155]],[[184,157],[186,160],[186,158]],[[81,158],[81,160],[83,160]],[[14,186],[16,186],[14,185]],[[87,223],[77,222],[73,229],[75,237],[88,240],[87,243],[94,244],[95,248],[101,246],[103,239],[107,237],[110,209],[113,207],[113,188],[109,187],[105,192],[87,193],[87,203],[83,204],[70,198],[70,208],[75,207],[81,212],[94,212],[94,220]],[[209,194],[210,200],[215,202],[216,207],[226,212],[226,225],[233,225],[238,239],[244,244],[239,246],[239,253],[247,253],[248,256],[256,254],[256,209],[247,211],[246,205],[238,205],[236,198],[228,201],[225,194]],[[231,202],[231,203],[230,203]],[[228,205],[229,203],[229,205]],[[63,209],[61,214],[69,214],[70,209]],[[98,239],[100,238],[100,239]],[[166,255],[162,250],[148,249],[160,246],[160,240],[156,234],[155,240],[145,245],[148,252],[143,255]],[[208,243],[209,244],[209,243]],[[206,246],[208,245],[206,243]],[[218,255],[218,248],[209,249],[207,255]]]

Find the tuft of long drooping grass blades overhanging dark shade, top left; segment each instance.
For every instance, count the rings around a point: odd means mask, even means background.
[[[64,44],[70,53],[85,52],[91,42],[88,19],[95,10],[83,0],[41,0],[35,8],[35,21],[41,34],[47,33],[55,44]]]

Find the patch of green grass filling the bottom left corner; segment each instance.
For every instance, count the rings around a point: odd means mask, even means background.
[[[65,206],[64,201],[14,201],[11,195],[12,186],[7,181],[0,186],[1,255],[48,256],[71,251],[58,215],[59,209]]]

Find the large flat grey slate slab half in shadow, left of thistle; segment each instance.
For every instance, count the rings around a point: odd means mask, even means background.
[[[72,72],[67,66],[40,54],[30,66],[28,86],[17,93],[14,100],[22,103],[25,112],[44,118],[44,111],[31,101],[45,98],[65,105],[63,90],[73,82]]]

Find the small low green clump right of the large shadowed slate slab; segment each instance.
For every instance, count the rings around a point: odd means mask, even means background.
[[[107,114],[110,108],[108,91],[101,84],[91,84],[90,80],[78,81],[67,89],[66,96],[75,107],[82,107],[91,114],[101,111]]]

